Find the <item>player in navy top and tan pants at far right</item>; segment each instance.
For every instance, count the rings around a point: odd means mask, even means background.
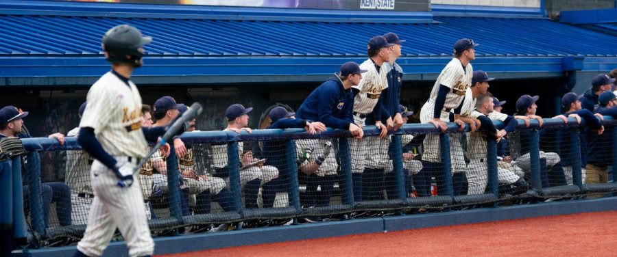
[[[617,96],[604,92],[598,97],[596,114],[617,118]],[[585,184],[606,183],[609,181],[608,166],[612,165],[612,133],[590,134],[587,155],[587,179]]]

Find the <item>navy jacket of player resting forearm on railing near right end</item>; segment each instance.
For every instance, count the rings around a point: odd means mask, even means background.
[[[588,109],[580,109],[579,111],[570,111],[564,113],[564,116],[570,114],[578,114],[585,121],[585,127],[580,128],[580,141],[581,141],[581,167],[585,167],[587,164],[588,155],[588,133],[591,133],[592,129],[600,129],[602,126],[600,120],[594,116],[594,113]],[[567,127],[559,129],[557,132],[557,141],[559,143],[559,157],[561,157],[561,164],[564,166],[572,166],[572,142],[570,141],[570,129]]]

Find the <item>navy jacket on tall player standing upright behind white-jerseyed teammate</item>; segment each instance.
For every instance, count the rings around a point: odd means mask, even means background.
[[[387,66],[386,66],[387,65]],[[400,89],[402,87],[402,69],[398,64],[389,66],[385,64],[383,67],[392,67],[388,74],[388,88],[381,92],[379,100],[381,101],[381,121],[385,124],[386,120],[390,117],[394,118],[398,113],[398,105],[400,105]],[[375,124],[375,115],[370,113],[366,117],[365,123],[367,125]]]

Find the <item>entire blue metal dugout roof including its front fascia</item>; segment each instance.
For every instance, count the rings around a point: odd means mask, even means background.
[[[432,80],[452,44],[481,44],[474,68],[501,79],[561,77],[565,70],[611,70],[617,37],[550,21],[537,10],[500,12],[435,6],[433,12],[213,8],[5,1],[0,3],[0,85],[90,85],[108,64],[104,32],[134,25],[145,46],[141,84],[323,81],[340,64],[366,58],[372,36],[407,40],[398,59],[406,80]]]

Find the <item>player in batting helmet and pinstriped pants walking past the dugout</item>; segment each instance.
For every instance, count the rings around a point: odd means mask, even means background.
[[[130,25],[118,25],[108,30],[101,41],[112,70],[90,87],[80,122],[77,141],[95,159],[90,168],[95,198],[74,256],[100,256],[116,228],[130,256],[150,256],[154,241],[141,185],[134,179],[133,170],[146,157],[146,139],[156,141],[167,128],[142,126],[141,96],[130,77],[135,68],[143,65],[142,46],[152,38],[142,36]]]

